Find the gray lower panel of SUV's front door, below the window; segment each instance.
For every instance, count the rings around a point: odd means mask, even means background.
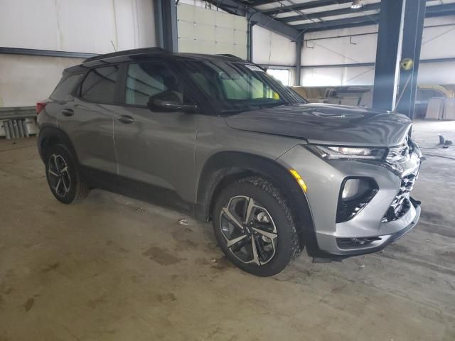
[[[124,107],[119,116],[134,119],[114,122],[119,175],[175,190],[192,202],[198,115]]]

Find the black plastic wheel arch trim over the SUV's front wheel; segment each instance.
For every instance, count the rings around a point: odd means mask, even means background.
[[[199,220],[210,221],[214,202],[220,190],[232,180],[259,174],[282,189],[296,217],[301,244],[307,252],[318,249],[311,210],[305,193],[289,171],[269,158],[242,152],[220,152],[210,156],[200,173],[195,215]],[[314,244],[316,243],[316,244]]]

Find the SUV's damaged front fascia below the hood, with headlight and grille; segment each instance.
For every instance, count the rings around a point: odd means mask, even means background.
[[[279,161],[306,185],[317,247],[350,256],[378,251],[420,216],[410,192],[421,153],[409,138],[390,148],[295,146]]]

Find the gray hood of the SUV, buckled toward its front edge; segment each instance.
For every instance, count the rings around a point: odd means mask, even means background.
[[[336,104],[287,104],[225,119],[233,129],[306,139],[313,144],[397,146],[412,121],[402,114]]]

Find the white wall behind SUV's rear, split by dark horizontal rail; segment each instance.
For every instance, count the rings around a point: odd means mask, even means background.
[[[8,13],[0,20],[2,47],[109,53],[156,45],[152,0],[0,0],[0,13]],[[48,97],[63,69],[80,61],[0,55],[0,107]]]

